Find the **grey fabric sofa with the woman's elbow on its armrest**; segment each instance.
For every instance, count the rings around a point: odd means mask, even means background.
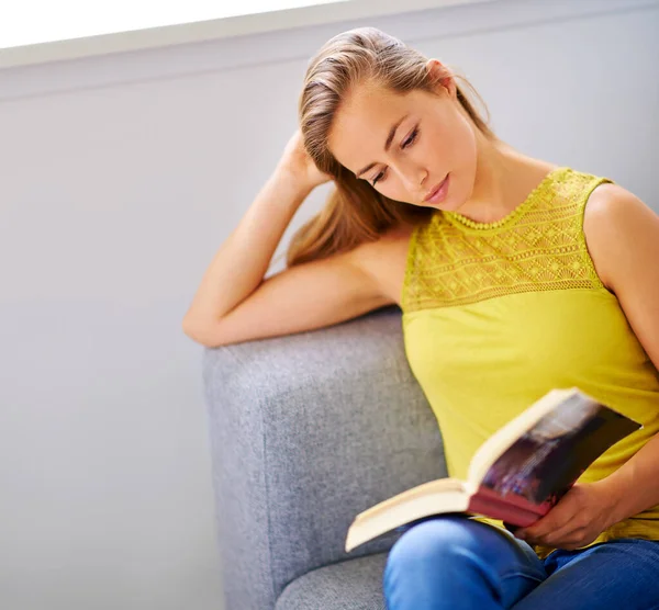
[[[344,551],[353,518],[446,476],[401,312],[204,350],[226,610],[384,608],[396,535]]]

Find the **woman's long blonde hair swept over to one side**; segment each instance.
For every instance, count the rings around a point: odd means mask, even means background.
[[[375,27],[359,27],[334,36],[311,59],[299,101],[300,129],[306,151],[319,169],[333,177],[336,188],[324,208],[292,237],[288,267],[350,250],[378,239],[400,222],[417,224],[433,214],[433,208],[380,194],[343,167],[327,147],[332,121],[342,100],[356,84],[372,82],[400,93],[415,89],[432,93],[436,81],[431,78],[426,63],[421,53]],[[455,76],[465,80],[482,103],[469,81]],[[457,99],[476,127],[488,138],[495,138],[459,88]]]

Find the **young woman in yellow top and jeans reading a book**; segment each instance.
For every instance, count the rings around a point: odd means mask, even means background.
[[[659,608],[659,217],[499,139],[436,59],[375,29],[311,61],[300,125],[183,328],[221,346],[398,304],[449,475],[554,387],[644,425],[535,524],[445,516],[392,549],[391,610]],[[264,281],[316,185],[336,190]],[[487,405],[487,407],[485,407]]]

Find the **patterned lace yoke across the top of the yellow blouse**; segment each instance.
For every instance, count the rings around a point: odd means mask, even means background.
[[[583,211],[604,182],[613,181],[561,167],[494,223],[433,214],[410,238],[403,312],[523,292],[603,289],[583,237]]]

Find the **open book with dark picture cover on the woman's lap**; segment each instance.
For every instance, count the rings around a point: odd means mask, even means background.
[[[346,551],[445,512],[530,526],[604,451],[639,428],[578,388],[552,389],[478,449],[467,481],[432,481],[358,515],[348,530]]]

